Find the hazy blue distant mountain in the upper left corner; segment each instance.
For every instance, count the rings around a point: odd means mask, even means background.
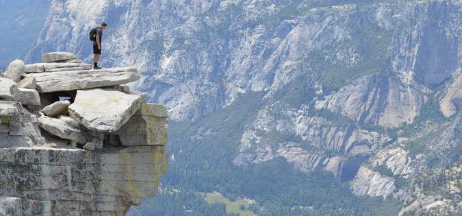
[[[0,1],[0,67],[8,67],[34,43],[50,5],[51,0]]]

